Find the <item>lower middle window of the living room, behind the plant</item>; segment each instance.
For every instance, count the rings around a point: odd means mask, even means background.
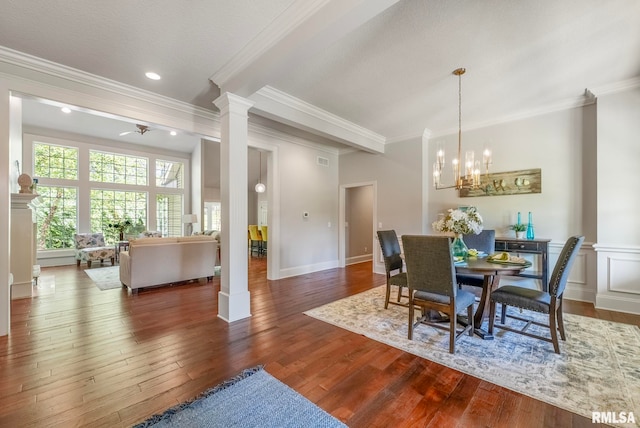
[[[120,240],[116,229],[110,224],[129,220],[132,227],[125,231],[137,235],[147,224],[147,193],[119,190],[91,190],[91,230],[102,232],[107,242]]]

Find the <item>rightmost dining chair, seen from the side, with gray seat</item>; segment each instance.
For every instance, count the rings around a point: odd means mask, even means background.
[[[567,285],[567,279],[571,272],[571,267],[580,251],[580,246],[584,241],[584,236],[572,236],[567,240],[562,248],[560,257],[553,269],[551,279],[549,280],[549,291],[539,291],[530,288],[519,287],[515,285],[506,285],[500,287],[491,293],[490,312],[489,312],[489,334],[493,333],[493,327],[503,330],[512,331],[514,333],[524,334],[525,336],[544,340],[553,343],[553,350],[556,354],[560,353],[560,345],[558,343],[558,331],[562,340],[566,340],[564,331],[564,323],[562,320],[562,295]],[[495,324],[496,305],[502,305],[500,315],[500,323]],[[507,315],[507,307],[514,306],[521,309],[527,309],[534,312],[541,312],[549,315],[548,324],[534,321],[532,319],[520,317],[517,315]],[[506,317],[526,322],[522,329],[512,328],[506,325]],[[550,330],[551,338],[526,331],[531,324],[546,327]]]

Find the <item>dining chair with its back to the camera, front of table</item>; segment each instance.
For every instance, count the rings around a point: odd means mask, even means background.
[[[449,352],[455,353],[456,341],[464,334],[473,336],[473,293],[458,289],[451,254],[451,238],[446,236],[404,235],[404,259],[407,264],[409,285],[409,340],[419,324],[445,329],[441,323],[430,321],[429,310],[449,316]],[[414,320],[414,307],[422,309]],[[457,314],[467,313],[467,325],[458,330]]]

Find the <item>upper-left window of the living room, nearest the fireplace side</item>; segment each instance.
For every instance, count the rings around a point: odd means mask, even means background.
[[[34,176],[39,178],[78,179],[78,149],[35,143]]]

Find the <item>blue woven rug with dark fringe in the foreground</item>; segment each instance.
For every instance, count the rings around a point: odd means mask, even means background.
[[[346,425],[258,366],[134,428],[143,427],[331,428]]]

